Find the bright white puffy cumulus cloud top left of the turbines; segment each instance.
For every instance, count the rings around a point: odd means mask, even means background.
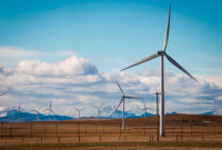
[[[41,62],[40,60],[26,60],[16,67],[17,73],[34,76],[78,76],[97,74],[98,70],[89,60],[72,56],[59,63]]]

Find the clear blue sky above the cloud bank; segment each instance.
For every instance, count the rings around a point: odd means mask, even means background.
[[[214,58],[222,56],[221,1],[2,1],[0,46],[69,50],[88,58],[100,71],[121,69],[162,49],[169,4],[169,54],[193,73],[206,73],[195,68],[220,68]],[[57,62],[63,58],[38,59]],[[2,62],[12,63],[3,58]],[[157,68],[159,61],[147,66]]]

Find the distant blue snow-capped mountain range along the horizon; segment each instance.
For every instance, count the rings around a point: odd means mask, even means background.
[[[101,109],[101,113],[100,113],[100,118],[115,118],[115,113],[114,109],[110,106],[104,107]],[[134,109],[130,109],[128,111],[125,111],[125,118],[141,118],[144,117],[144,112],[142,112],[142,108],[140,108],[139,106],[135,106]],[[145,116],[147,117],[152,117],[152,116],[157,116],[155,111],[152,111],[154,113],[150,113],[147,112]],[[175,111],[168,111],[167,114],[175,114]],[[214,114],[214,111],[209,111],[209,112],[204,112],[201,114]],[[88,118],[88,117],[97,117],[98,113],[94,114],[88,114],[88,116],[82,116],[81,118]],[[19,118],[19,119],[18,119]],[[117,118],[122,118],[122,111],[118,110],[117,111]],[[59,116],[59,114],[51,114],[50,116],[50,120],[71,120],[71,119],[78,119],[78,117],[69,117],[69,116]],[[43,113],[39,113],[39,119],[37,119],[37,114],[32,113],[32,112],[24,112],[22,111],[21,113],[14,111],[14,110],[10,110],[8,108],[1,109],[0,110],[0,122],[27,122],[27,121],[37,121],[37,120],[41,120],[41,121],[47,121],[49,120],[49,116],[48,114],[43,114]]]

